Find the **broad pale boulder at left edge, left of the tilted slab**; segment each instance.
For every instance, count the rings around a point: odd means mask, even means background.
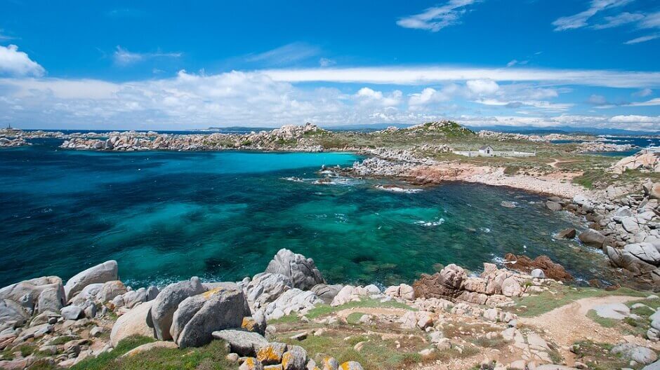
[[[17,282],[0,289],[0,300],[11,299],[11,301],[22,303],[22,306],[27,310],[34,310],[39,303],[41,292],[46,289],[55,289],[58,292],[57,296],[65,296],[62,279],[57,276],[44,276]],[[44,300],[46,300],[46,297],[44,297]],[[64,306],[66,300],[62,299],[60,303]]]

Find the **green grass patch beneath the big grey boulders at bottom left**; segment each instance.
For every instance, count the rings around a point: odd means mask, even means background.
[[[84,359],[72,370],[225,370],[235,369],[236,364],[228,362],[228,354],[223,341],[212,341],[199,348],[154,348],[140,355],[121,357],[124,353],[151,343],[154,339],[133,336],[120,341],[112,352],[103,353],[93,359]]]

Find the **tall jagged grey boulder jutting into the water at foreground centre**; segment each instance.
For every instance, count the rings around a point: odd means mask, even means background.
[[[291,279],[294,288],[309,290],[325,282],[313,259],[295,254],[289,249],[279,249],[268,263],[266,273],[279,273]]]

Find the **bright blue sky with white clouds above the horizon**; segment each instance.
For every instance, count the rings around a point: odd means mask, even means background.
[[[660,130],[660,3],[4,1],[0,124]]]

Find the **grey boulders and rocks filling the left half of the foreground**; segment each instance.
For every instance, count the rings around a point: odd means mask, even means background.
[[[22,369],[37,359],[72,366],[140,335],[157,341],[133,354],[154,347],[199,347],[219,338],[230,345],[230,358],[241,369],[276,363],[282,369],[316,369],[302,348],[269,343],[267,320],[331,302],[342,288],[326,285],[312,259],[287,249],[277,252],[264,273],[242,282],[202,283],[193,277],[161,290],[126,287],[118,279],[117,262],[107,261],[65,285],[49,276],[0,289],[0,350],[26,343],[38,348],[34,355],[0,358],[0,368]],[[357,362],[343,366],[362,369]]]

